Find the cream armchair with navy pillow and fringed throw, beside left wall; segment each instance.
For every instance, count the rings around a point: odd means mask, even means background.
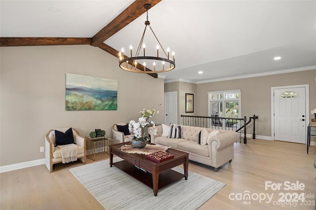
[[[53,171],[53,164],[62,163],[61,149],[56,146],[55,130],[65,133],[69,128],[56,128],[48,131],[45,137],[45,165],[48,171]],[[85,164],[85,139],[79,136],[79,132],[72,128],[75,145],[77,146],[77,158]],[[66,144],[66,143],[64,143]]]

